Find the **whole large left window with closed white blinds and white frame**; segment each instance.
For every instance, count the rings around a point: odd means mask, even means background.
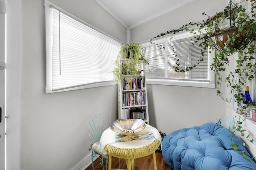
[[[46,93],[114,84],[120,45],[46,2]]]

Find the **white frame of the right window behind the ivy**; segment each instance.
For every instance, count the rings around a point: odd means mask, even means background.
[[[188,37],[193,37],[189,31],[178,33],[172,37],[172,40],[184,39]],[[167,45],[168,41],[170,41],[171,36],[165,36],[162,38],[158,38],[153,40],[153,43],[160,44],[165,43]],[[143,47],[150,47],[152,44],[150,42],[141,42]],[[167,74],[167,48],[165,48],[165,72]],[[210,69],[210,64],[214,58],[214,51],[208,49],[208,79],[207,80],[195,80],[191,81],[189,79],[170,79],[170,78],[146,78],[147,84],[156,84],[156,85],[170,85],[170,86],[190,86],[190,87],[201,87],[201,88],[215,88],[215,73]]]

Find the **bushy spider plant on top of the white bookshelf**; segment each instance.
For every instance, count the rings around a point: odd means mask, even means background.
[[[147,63],[142,56],[141,49],[140,43],[134,43],[131,40],[129,43],[121,45],[112,71],[115,82],[120,82],[126,74],[130,76],[140,74],[139,65],[141,62]]]

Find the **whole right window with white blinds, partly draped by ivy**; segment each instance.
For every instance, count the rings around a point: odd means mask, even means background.
[[[146,65],[148,84],[215,88],[214,72],[210,70],[214,53],[206,51],[204,61],[190,71],[175,72],[172,67],[176,63],[175,56],[178,57],[180,66],[186,67],[198,63],[202,47],[194,43],[193,36],[190,33],[181,33],[171,40],[170,37],[166,37],[155,41],[162,48],[150,43],[142,43],[142,54],[149,63]]]

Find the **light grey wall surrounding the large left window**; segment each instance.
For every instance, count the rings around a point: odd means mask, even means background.
[[[120,41],[126,41],[126,29],[106,13],[94,0],[52,1],[64,10],[102,29]],[[44,30],[44,0],[21,0],[20,32],[14,41],[20,44],[20,56],[9,55],[16,69],[8,69],[7,105],[8,139],[15,125],[13,113],[20,123],[18,144],[8,147],[8,170],[71,170],[84,169],[90,163],[88,120],[101,113],[109,123],[117,118],[117,87],[106,86],[69,92],[45,94],[46,54]],[[11,11],[11,10],[10,10]],[[18,20],[19,21],[19,20]],[[18,22],[19,23],[19,22]],[[14,27],[13,27],[14,28]],[[10,29],[8,29],[9,31]],[[9,40],[8,40],[9,41]],[[10,50],[11,45],[8,47]],[[16,46],[13,46],[16,47]],[[19,47],[19,46],[18,46]],[[15,65],[13,64],[13,65]],[[12,82],[18,84],[12,84]],[[20,86],[19,86],[20,84]],[[14,88],[15,94],[11,94]],[[16,93],[17,92],[17,93]],[[19,94],[20,93],[20,94]],[[20,117],[20,119],[19,119]],[[19,124],[18,124],[19,125]],[[17,148],[16,148],[17,147]],[[20,157],[13,160],[13,157]],[[13,162],[15,161],[15,162]],[[82,162],[81,162],[82,161]],[[80,163],[80,164],[79,164]],[[80,167],[82,166],[82,168]]]

